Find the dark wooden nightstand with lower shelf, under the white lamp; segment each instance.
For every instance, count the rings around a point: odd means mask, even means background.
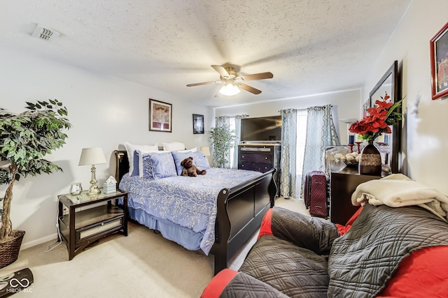
[[[69,260],[103,237],[120,232],[127,236],[127,192],[89,196],[59,195],[58,225],[60,237],[69,249]],[[118,205],[118,199],[123,204]]]

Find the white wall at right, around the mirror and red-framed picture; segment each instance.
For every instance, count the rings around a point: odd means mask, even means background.
[[[445,195],[448,195],[448,98],[431,99],[429,40],[447,22],[447,0],[412,1],[363,88],[367,98],[393,61],[402,61],[407,175]]]

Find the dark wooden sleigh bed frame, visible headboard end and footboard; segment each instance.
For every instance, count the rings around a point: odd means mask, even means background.
[[[126,151],[115,151],[116,180],[129,171]],[[215,243],[210,253],[215,257],[215,274],[228,267],[228,260],[260,228],[267,209],[274,207],[277,192],[276,169],[269,170],[244,184],[224,188],[218,194]],[[118,187],[117,184],[117,187]]]

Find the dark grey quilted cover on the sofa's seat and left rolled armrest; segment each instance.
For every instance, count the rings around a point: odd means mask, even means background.
[[[260,237],[239,270],[287,297],[327,297],[327,258],[338,236],[335,225],[274,207],[271,228],[275,236]],[[238,292],[241,295],[230,297],[260,297],[259,292],[251,296],[247,288]],[[279,292],[279,296],[268,293],[265,297],[281,297]]]

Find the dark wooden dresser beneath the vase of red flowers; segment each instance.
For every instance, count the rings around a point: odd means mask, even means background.
[[[386,177],[386,175],[386,172],[382,172],[381,176],[360,175],[357,167],[346,167],[343,163],[331,162],[328,188],[330,221],[345,225],[359,208],[359,206],[351,204],[351,195],[355,192],[356,186],[363,182]]]

